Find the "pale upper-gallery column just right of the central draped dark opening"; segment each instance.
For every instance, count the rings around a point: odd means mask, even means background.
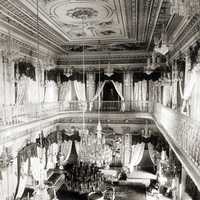
[[[125,71],[123,76],[123,83],[124,83],[124,99],[126,110],[131,109],[131,102],[133,101],[133,72]]]

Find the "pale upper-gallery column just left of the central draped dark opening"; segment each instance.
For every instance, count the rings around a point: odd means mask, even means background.
[[[90,101],[95,95],[95,73],[88,72],[86,77],[87,100]]]

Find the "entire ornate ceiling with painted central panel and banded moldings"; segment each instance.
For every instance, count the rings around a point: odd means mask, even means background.
[[[36,3],[0,0],[0,23],[35,43]],[[115,64],[119,58],[121,63],[146,63],[154,35],[160,36],[169,19],[170,0],[39,0],[40,44],[80,61],[84,44],[90,61],[101,55],[116,59]]]

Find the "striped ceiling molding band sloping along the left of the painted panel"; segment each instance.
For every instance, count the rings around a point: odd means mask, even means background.
[[[30,8],[20,1],[5,0],[0,4],[0,20],[7,26],[20,32],[21,35],[28,37],[35,42],[37,38],[37,16]],[[9,22],[8,22],[9,19]],[[51,26],[39,19],[40,42],[52,46],[55,51],[64,52],[61,45],[66,39],[59,35]]]

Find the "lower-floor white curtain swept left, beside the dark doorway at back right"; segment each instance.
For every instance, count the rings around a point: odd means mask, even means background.
[[[133,172],[134,167],[139,165],[139,163],[142,160],[143,154],[144,154],[144,147],[145,143],[138,143],[136,145],[132,145],[131,147],[131,161],[130,161],[130,172]]]

